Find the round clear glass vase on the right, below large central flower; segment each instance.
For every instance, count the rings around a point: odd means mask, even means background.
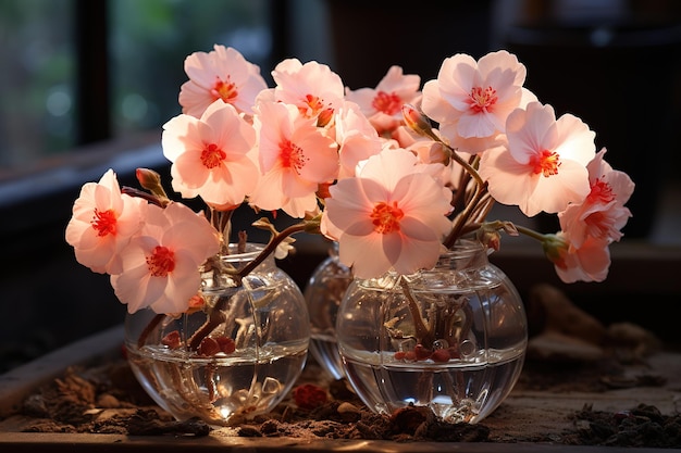
[[[516,385],[528,324],[518,291],[485,249],[460,241],[432,269],[355,279],[336,338],[345,374],[373,412],[418,406],[474,424]]]

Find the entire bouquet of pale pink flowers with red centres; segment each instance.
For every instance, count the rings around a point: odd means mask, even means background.
[[[243,205],[300,221],[283,231],[258,221],[272,231],[263,256],[284,256],[295,232],[321,232],[360,278],[430,268],[463,236],[498,249],[504,231],[535,238],[566,282],[607,276],[634,185],[586,124],[523,87],[525,67],[507,51],[447,58],[422,88],[393,66],[375,88],[351,90],[297,59],[269,88],[223,46],[187,56],[185,71],[183,113],[163,126],[162,148],[172,189],[206,213],[171,200],[151,171],[137,172],[141,191],[110,169],[83,187],[66,227],[77,261],[110,274],[131,313],[195,310],[199,267],[235,240]],[[495,202],[557,214],[560,231],[487,221]]]

